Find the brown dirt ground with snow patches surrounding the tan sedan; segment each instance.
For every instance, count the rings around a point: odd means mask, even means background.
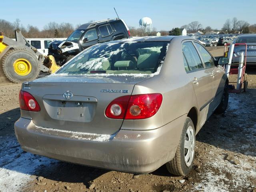
[[[223,53],[222,47],[209,49],[214,56]],[[247,73],[248,92],[230,94],[226,113],[212,115],[196,136],[194,166],[186,177],[162,166],[133,178],[24,152],[14,134],[20,84],[2,85],[0,192],[256,192],[256,69]]]

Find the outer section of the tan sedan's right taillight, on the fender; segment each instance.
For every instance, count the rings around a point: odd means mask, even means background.
[[[132,95],[124,119],[146,119],[158,112],[163,96],[160,93]]]

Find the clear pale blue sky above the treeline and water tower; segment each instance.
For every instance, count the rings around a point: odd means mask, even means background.
[[[19,18],[24,26],[42,29],[53,21],[76,25],[115,18],[113,7],[129,26],[138,27],[140,18],[148,16],[157,30],[192,21],[220,29],[227,18],[233,17],[256,23],[256,0],[5,0],[1,2],[0,19],[14,22]]]

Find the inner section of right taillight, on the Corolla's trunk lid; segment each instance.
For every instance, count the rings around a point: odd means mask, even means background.
[[[113,100],[106,108],[105,115],[108,118],[124,119],[126,108],[129,102],[130,95],[118,97]]]

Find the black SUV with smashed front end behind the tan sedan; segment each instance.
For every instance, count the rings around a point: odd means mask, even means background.
[[[63,65],[82,50],[97,44],[128,38],[130,31],[124,20],[105,19],[82,24],[65,41],[53,41],[48,55],[54,56],[58,65]]]

